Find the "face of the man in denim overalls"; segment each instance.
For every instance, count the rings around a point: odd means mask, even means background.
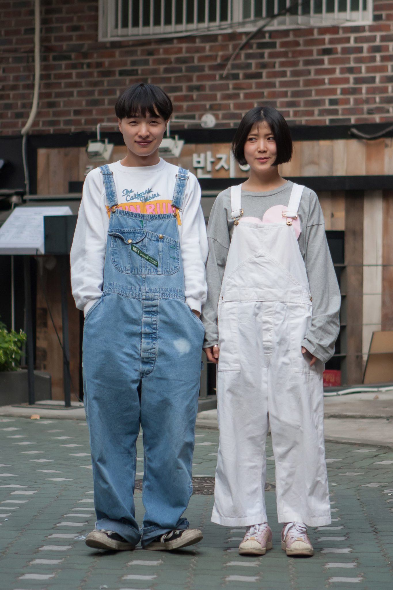
[[[159,115],[146,113],[146,117],[137,115],[118,119],[118,127],[130,152],[137,156],[150,156],[163,140],[167,121]]]

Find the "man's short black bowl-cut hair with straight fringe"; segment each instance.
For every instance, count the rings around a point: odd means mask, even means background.
[[[167,121],[173,111],[173,105],[169,96],[154,84],[133,84],[118,97],[115,104],[115,113],[118,119],[130,117],[163,117]]]

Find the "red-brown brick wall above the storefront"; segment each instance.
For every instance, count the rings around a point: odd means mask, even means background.
[[[0,0],[0,133],[15,135],[31,109],[34,1]],[[368,26],[261,32],[226,60],[246,34],[98,42],[98,0],[42,0],[41,91],[31,133],[90,130],[114,120],[120,90],[159,84],[177,116],[213,112],[230,127],[256,104],[296,124],[393,118],[393,2],[374,2]]]

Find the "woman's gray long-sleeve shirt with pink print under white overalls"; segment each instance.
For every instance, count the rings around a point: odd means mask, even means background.
[[[242,191],[243,217],[263,215],[275,205],[288,207],[293,182],[286,182],[273,191]],[[299,205],[301,234],[299,248],[305,261],[310,293],[312,296],[312,322],[299,346],[305,348],[322,362],[328,361],[334,352],[339,332],[339,291],[332,258],[325,234],[325,222],[318,197],[311,189],[303,190]],[[220,296],[230,240],[233,233],[230,207],[230,189],[217,196],[207,226],[209,256],[206,263],[207,301],[202,309],[202,321],[206,330],[204,347],[218,343],[217,305]]]

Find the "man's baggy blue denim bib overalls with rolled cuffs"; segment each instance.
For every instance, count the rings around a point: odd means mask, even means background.
[[[182,514],[192,493],[204,328],[184,297],[176,212],[187,171],[177,173],[173,212],[150,215],[118,209],[113,173],[100,170],[111,208],[103,294],[87,312],[83,336],[95,528],[147,545],[189,526]],[[140,427],[142,529],[133,499]]]

